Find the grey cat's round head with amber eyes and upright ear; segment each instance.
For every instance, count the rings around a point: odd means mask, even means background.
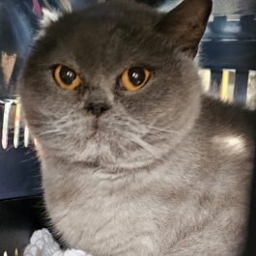
[[[159,14],[119,0],[48,24],[19,85],[44,153],[131,168],[175,147],[199,113],[193,57],[211,9],[185,0]]]

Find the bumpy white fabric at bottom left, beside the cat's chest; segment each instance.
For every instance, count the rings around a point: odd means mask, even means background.
[[[61,250],[46,229],[34,232],[29,245],[24,250],[23,256],[92,256],[82,250]]]

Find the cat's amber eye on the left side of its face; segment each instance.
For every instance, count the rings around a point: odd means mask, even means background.
[[[56,83],[65,90],[74,90],[81,84],[80,76],[64,65],[57,65],[53,70],[53,78]]]

